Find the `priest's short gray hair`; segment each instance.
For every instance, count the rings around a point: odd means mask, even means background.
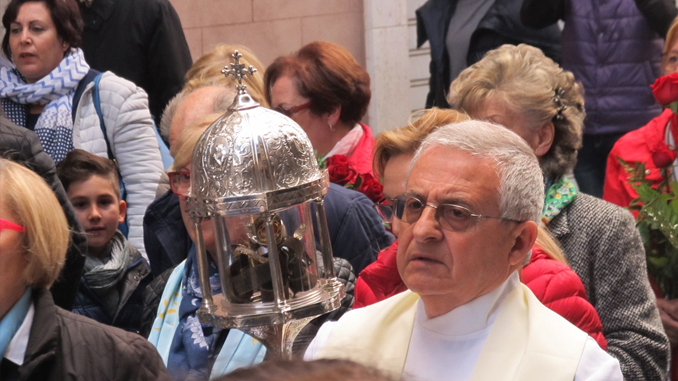
[[[520,136],[504,126],[478,120],[442,126],[421,143],[407,172],[407,181],[421,156],[435,147],[492,160],[499,175],[501,216],[539,222],[544,206],[544,178],[537,157]]]

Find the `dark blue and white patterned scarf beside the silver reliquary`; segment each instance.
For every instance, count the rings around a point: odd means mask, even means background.
[[[220,294],[219,272],[211,260],[208,259],[208,262],[212,295]],[[221,330],[201,324],[196,315],[202,304],[202,290],[195,245],[186,258],[182,283],[179,326],[170,346],[167,369],[175,380],[207,380],[210,375],[210,356],[213,355],[214,344]]]

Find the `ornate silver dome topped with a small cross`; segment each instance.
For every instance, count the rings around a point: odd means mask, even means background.
[[[224,73],[239,80],[255,71],[244,70],[237,58],[231,66]],[[196,144],[189,213],[211,217],[275,211],[323,196],[329,182],[306,133],[292,119],[261,107],[245,85],[237,89],[229,111]]]

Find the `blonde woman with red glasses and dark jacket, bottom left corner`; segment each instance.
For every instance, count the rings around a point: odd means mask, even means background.
[[[142,337],[54,305],[47,289],[59,275],[68,240],[66,217],[44,180],[0,159],[3,379],[168,379]]]

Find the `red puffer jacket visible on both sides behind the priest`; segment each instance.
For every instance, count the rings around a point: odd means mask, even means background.
[[[407,289],[398,274],[397,251],[398,241],[382,250],[377,261],[360,273],[355,285],[353,308],[368,306]],[[581,279],[569,266],[534,246],[530,263],[521,270],[520,280],[546,307],[588,333],[601,348],[607,349],[600,317],[588,302]]]

